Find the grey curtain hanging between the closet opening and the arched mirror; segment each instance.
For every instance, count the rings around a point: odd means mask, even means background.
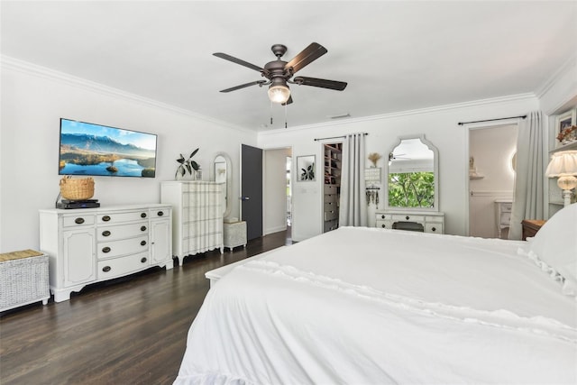
[[[346,135],[343,142],[340,226],[366,226],[364,183],[364,133]]]

